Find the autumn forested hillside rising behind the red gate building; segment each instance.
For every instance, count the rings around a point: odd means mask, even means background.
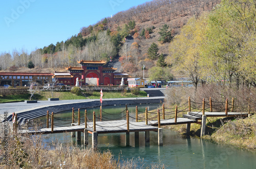
[[[67,66],[77,66],[76,61],[81,59],[110,60],[120,57],[123,71],[133,77],[142,77],[144,64],[145,77],[147,77],[150,68],[167,65],[162,62],[169,55],[169,42],[179,34],[187,20],[191,16],[199,17],[202,12],[210,11],[219,2],[214,0],[147,2],[112,17],[102,18],[94,25],[81,28],[77,35],[66,41],[49,44],[31,54],[25,49],[1,54],[0,67],[2,71],[28,71],[26,67],[29,61],[32,61],[36,71],[54,71]],[[130,44],[125,43],[127,39],[130,39]],[[150,48],[153,49],[148,52]],[[156,56],[152,57],[154,53]],[[169,67],[170,65],[165,71],[169,72]],[[167,74],[166,76],[172,77]]]

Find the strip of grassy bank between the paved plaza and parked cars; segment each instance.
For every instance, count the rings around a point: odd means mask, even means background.
[[[103,99],[111,99],[111,98],[138,98],[138,97],[146,97],[147,93],[145,91],[140,91],[139,95],[134,95],[130,91],[126,93],[122,93],[121,91],[108,92],[103,91]],[[9,103],[9,102],[24,102],[25,100],[29,100],[30,93],[26,94],[15,94],[15,95],[7,95],[0,96],[0,103]],[[35,93],[31,100],[41,100],[46,101],[48,98],[52,98],[52,94],[50,91],[39,91]],[[94,91],[93,93],[83,93],[83,95],[75,95],[70,91],[54,91],[53,98],[59,98],[59,100],[79,100],[79,99],[100,99],[100,92]]]

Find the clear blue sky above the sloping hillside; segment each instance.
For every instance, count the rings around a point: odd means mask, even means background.
[[[105,17],[149,0],[12,0],[1,1],[0,54],[29,53],[65,41]]]

